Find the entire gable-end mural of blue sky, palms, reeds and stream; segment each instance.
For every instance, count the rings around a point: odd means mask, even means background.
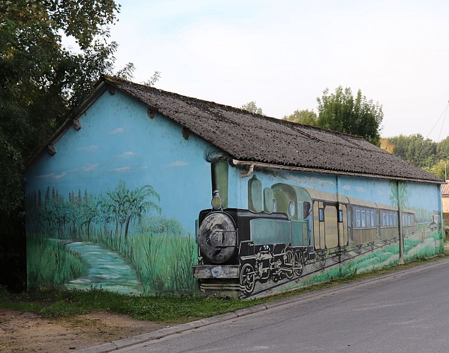
[[[119,91],[80,121],[25,175],[28,286],[196,292],[209,145]]]

